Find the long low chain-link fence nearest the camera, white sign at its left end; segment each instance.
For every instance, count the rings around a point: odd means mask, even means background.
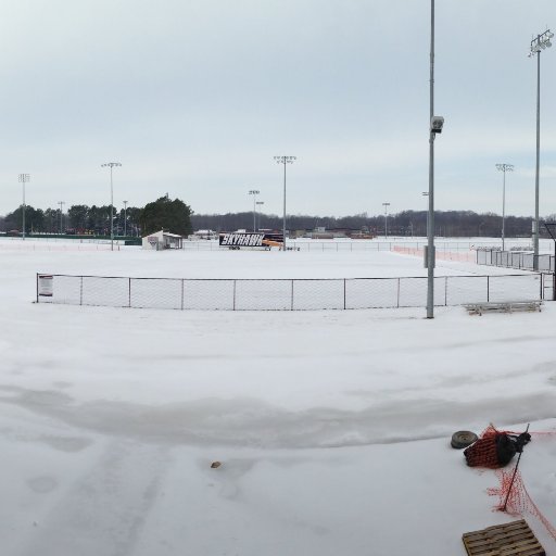
[[[434,278],[434,305],[543,299],[543,275]],[[419,307],[427,278],[189,279],[37,275],[37,303],[200,311]]]

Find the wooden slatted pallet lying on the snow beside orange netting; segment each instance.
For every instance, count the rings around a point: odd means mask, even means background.
[[[463,541],[469,556],[546,556],[525,519],[464,533]]]

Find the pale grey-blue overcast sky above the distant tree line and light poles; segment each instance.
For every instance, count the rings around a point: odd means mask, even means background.
[[[437,0],[439,210],[534,213],[533,34],[554,0]],[[0,17],[0,214],[142,206],[424,210],[430,0],[12,0]],[[541,215],[556,213],[556,48],[541,56]]]

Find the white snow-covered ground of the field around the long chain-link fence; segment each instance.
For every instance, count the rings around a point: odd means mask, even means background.
[[[174,312],[34,304],[35,273],[424,276],[389,252],[0,251],[8,556],[465,555],[510,521],[455,430],[556,431],[556,306]],[[437,275],[505,274],[439,262]],[[556,522],[556,437],[525,484]],[[222,462],[217,469],[212,462]],[[556,542],[526,516],[548,555]]]

